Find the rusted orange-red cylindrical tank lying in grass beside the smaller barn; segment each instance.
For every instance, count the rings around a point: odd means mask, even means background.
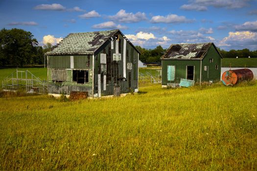
[[[240,81],[250,81],[253,80],[254,73],[250,69],[235,69],[228,70],[222,74],[221,80],[224,85],[235,85]]]

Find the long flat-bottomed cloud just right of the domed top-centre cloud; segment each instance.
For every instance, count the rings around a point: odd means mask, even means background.
[[[185,16],[178,16],[176,14],[170,14],[167,16],[154,16],[152,17],[152,23],[192,23],[194,20],[189,20]]]

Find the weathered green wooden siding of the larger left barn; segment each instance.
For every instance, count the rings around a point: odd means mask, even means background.
[[[100,80],[101,80],[101,94],[104,95],[112,95],[114,91],[114,86],[117,84],[118,86],[121,86],[121,93],[128,93],[131,92],[131,90],[135,90],[138,88],[138,52],[134,49],[134,47],[126,42],[126,51],[125,51],[125,64],[123,64],[123,46],[124,46],[124,38],[122,35],[119,35],[120,39],[120,45],[119,45],[119,52],[121,53],[121,61],[118,61],[117,63],[113,62],[113,54],[116,53],[116,40],[114,40],[114,48],[111,49],[111,42],[105,43],[102,47],[100,47],[97,52],[93,55],[70,55],[73,56],[73,68],[72,66],[72,58],[70,58],[69,55],[64,56],[48,56],[48,81],[56,82],[56,80],[52,80],[51,74],[52,69],[65,69],[66,74],[66,80],[62,83],[58,83],[61,86],[66,86],[67,88],[63,88],[64,91],[70,91],[70,89],[78,88],[78,86],[86,86],[86,87],[92,87],[93,91],[89,96],[93,96],[93,94],[97,93],[98,91],[98,74],[100,74]],[[106,57],[110,61],[106,59],[107,63],[110,63],[110,67],[107,67],[107,72],[111,73],[111,78],[107,77],[107,74],[102,72],[102,66],[100,64],[100,54],[105,53]],[[93,62],[94,62],[94,70],[93,70]],[[132,63],[132,69],[128,70],[127,63]],[[115,66],[114,66],[115,64]],[[126,78],[123,79],[123,66],[125,66],[126,70]],[[118,75],[117,75],[117,83],[115,83],[115,77],[114,72],[118,69]],[[72,80],[72,70],[89,70],[92,71],[92,76],[94,76],[94,83],[93,83],[93,77],[90,77],[89,74],[89,83],[85,84],[77,84],[76,82],[73,82]],[[104,75],[106,74],[106,90],[104,90]],[[109,74],[110,75],[110,74]],[[130,75],[130,77],[129,77]],[[130,79],[129,79],[130,78]],[[94,86],[93,86],[94,85]],[[130,85],[130,87],[129,87]],[[61,86],[59,88],[61,88]],[[56,88],[56,86],[52,86]],[[130,89],[131,88],[131,89]],[[78,90],[82,90],[81,87],[78,88]],[[70,93],[70,92],[66,92]]]

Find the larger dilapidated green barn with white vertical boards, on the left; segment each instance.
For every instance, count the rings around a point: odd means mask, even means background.
[[[70,33],[46,53],[48,93],[101,97],[137,92],[139,54],[120,30]]]

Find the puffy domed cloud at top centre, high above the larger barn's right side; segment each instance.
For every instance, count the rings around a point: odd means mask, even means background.
[[[125,22],[125,23],[140,22],[140,21],[147,20],[145,13],[141,13],[141,12],[137,12],[136,14],[126,13],[124,9],[119,10],[117,14],[114,16],[109,16],[109,19],[112,21]]]

